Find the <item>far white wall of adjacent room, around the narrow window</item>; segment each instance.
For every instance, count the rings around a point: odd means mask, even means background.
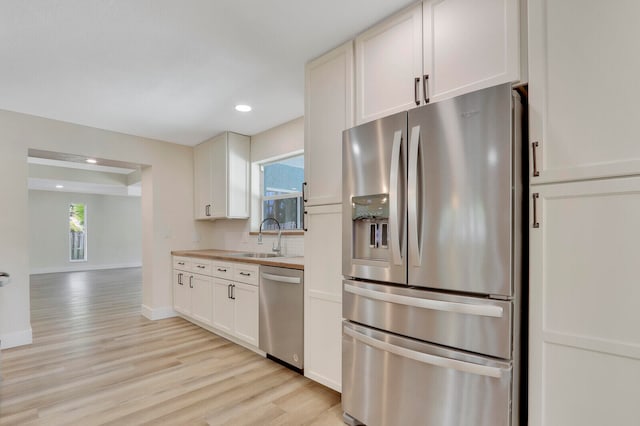
[[[69,260],[69,204],[86,205],[87,261]],[[32,274],[140,266],[140,197],[29,191]]]

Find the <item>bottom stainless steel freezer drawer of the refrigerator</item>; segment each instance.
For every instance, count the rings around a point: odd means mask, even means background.
[[[508,426],[512,365],[345,322],[344,411],[368,426]]]

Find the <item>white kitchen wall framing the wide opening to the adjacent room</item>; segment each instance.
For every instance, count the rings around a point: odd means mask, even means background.
[[[202,248],[211,240],[208,228],[193,220],[193,149],[0,111],[0,271],[12,277],[0,288],[2,347],[31,341],[29,148],[147,165],[142,170],[142,311],[152,318],[171,315],[171,250]]]

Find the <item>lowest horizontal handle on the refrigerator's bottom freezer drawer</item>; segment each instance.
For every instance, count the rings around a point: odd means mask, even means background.
[[[423,352],[414,351],[411,349],[403,348],[401,346],[392,345],[391,343],[383,342],[378,339],[374,339],[365,334],[358,333],[350,328],[343,328],[343,333],[347,336],[364,343],[367,346],[371,346],[376,349],[380,349],[385,352],[392,353],[394,355],[401,356],[403,358],[409,358],[414,361],[418,361],[424,364],[434,365],[441,368],[452,368],[464,373],[477,374],[480,376],[494,377],[499,379],[502,377],[502,370],[498,367],[490,367],[487,365],[479,365],[466,361],[458,361],[456,359],[444,358],[437,355],[426,354]]]

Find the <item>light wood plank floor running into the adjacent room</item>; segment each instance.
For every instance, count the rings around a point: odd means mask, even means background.
[[[341,425],[340,395],[181,318],[141,270],[31,278],[34,343],[2,351],[0,425]]]

